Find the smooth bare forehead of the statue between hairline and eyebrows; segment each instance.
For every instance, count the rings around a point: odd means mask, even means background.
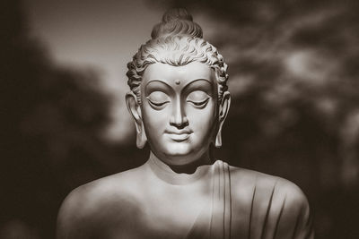
[[[208,65],[197,62],[181,66],[156,63],[150,64],[144,71],[142,83],[146,85],[150,81],[163,81],[173,85],[175,81],[180,81],[180,85],[185,86],[198,79],[215,83],[215,72]]]

